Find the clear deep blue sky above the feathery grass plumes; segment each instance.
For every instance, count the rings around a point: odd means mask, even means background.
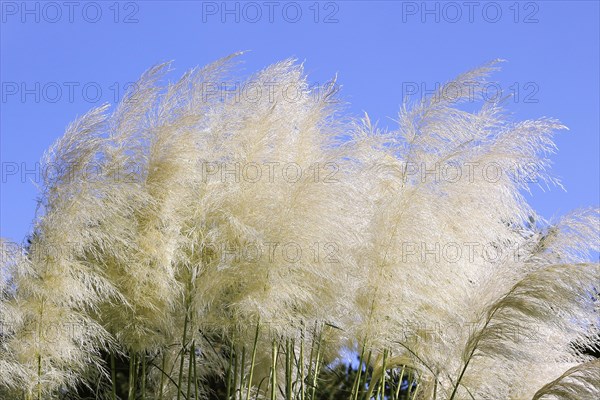
[[[390,128],[408,87],[420,92],[506,59],[494,80],[503,93],[518,94],[507,103],[514,118],[551,116],[570,128],[559,133],[553,157],[567,191],[534,189],[531,203],[550,218],[600,202],[597,1],[3,1],[1,7],[0,234],[13,241],[29,232],[35,213],[31,180],[40,174],[26,170],[77,115],[114,104],[155,63],[174,60],[175,79],[239,50],[251,50],[242,57],[248,74],[287,57],[304,61],[313,82],[337,73],[347,111],[367,111]]]

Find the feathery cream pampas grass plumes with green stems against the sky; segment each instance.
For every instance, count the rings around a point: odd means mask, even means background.
[[[224,92],[236,56],[151,68],[45,155],[30,244],[2,257],[3,398],[116,399],[127,360],[131,400],[316,399],[344,348],[356,400],[598,394],[598,211],[544,221],[522,195],[560,185],[565,127],[444,96],[498,61],[388,131],[293,60]]]

